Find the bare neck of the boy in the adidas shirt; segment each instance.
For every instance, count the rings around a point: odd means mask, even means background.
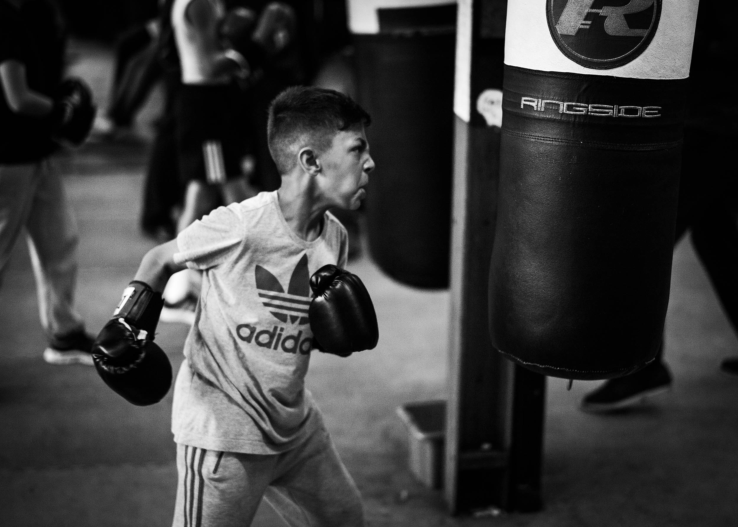
[[[282,216],[294,233],[305,241],[316,240],[328,206],[317,198],[312,178],[284,176],[277,196]]]

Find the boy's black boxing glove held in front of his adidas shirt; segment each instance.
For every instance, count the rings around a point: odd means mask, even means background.
[[[308,317],[314,348],[339,356],[370,350],[379,340],[379,326],[362,280],[334,265],[325,265],[310,278],[315,297]]]

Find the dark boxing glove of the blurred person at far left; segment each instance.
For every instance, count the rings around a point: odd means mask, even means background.
[[[63,80],[56,89],[49,120],[52,137],[58,142],[81,145],[89,135],[97,108],[92,92],[83,80]]]

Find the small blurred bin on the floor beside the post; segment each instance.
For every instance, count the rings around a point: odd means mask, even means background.
[[[430,489],[441,489],[444,483],[446,402],[404,404],[398,407],[397,415],[407,427],[410,472]]]

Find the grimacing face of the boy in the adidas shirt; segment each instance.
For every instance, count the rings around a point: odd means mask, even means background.
[[[319,156],[323,193],[334,207],[356,210],[366,195],[364,187],[374,160],[361,124],[339,131],[328,150]]]

